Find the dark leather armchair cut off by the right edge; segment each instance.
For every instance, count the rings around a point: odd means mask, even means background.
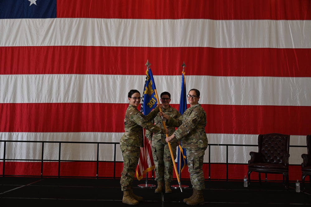
[[[307,135],[307,149],[308,154],[302,154],[301,157],[304,160],[301,163],[301,172],[302,172],[302,182],[303,182],[303,191],[305,190],[304,179],[309,175],[310,187],[311,187],[311,135]]]

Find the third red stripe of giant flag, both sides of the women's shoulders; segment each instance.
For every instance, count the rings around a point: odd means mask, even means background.
[[[177,110],[179,104],[171,104]],[[0,104],[1,132],[124,132],[128,104]],[[240,106],[202,104],[207,133],[309,134],[309,106]],[[113,108],[114,110],[111,110]],[[286,120],[286,121],[276,121]],[[74,120],[74,121],[73,121]]]

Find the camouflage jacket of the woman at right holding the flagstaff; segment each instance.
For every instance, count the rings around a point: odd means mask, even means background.
[[[182,148],[207,147],[206,113],[200,104],[188,108],[178,119],[169,117],[167,125],[178,127],[174,132]]]

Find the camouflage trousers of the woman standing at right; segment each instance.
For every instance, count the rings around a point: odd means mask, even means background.
[[[188,171],[192,188],[203,190],[205,188],[205,178],[203,173],[203,159],[206,148],[186,148]]]

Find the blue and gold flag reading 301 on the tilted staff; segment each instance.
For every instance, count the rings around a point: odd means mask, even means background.
[[[144,85],[144,92],[143,92],[142,102],[141,102],[141,107],[140,107],[140,111],[144,113],[144,115],[148,115],[150,111],[154,109],[158,104],[157,97],[156,97],[154,90],[156,90],[156,86],[153,80],[152,71],[149,68],[146,71],[146,81]]]

